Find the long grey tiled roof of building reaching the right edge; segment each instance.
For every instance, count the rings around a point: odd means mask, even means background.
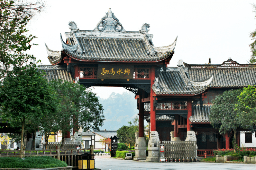
[[[223,62],[227,63],[227,62]],[[189,77],[193,81],[202,81],[213,75],[211,87],[245,87],[256,85],[256,65],[239,64],[243,66],[225,66],[225,67],[188,67]],[[185,66],[189,66],[186,65]]]

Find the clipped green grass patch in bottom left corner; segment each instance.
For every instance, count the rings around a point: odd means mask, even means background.
[[[0,157],[0,168],[56,168],[66,167],[63,161],[52,157]]]

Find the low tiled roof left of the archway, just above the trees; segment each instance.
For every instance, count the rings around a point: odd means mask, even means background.
[[[45,77],[48,82],[51,80],[63,79],[65,81],[73,82],[71,73],[67,73],[67,67],[60,65],[37,65],[39,72],[45,72]]]

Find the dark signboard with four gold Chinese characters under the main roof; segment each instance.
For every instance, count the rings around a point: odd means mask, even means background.
[[[98,79],[133,79],[134,65],[98,64]]]

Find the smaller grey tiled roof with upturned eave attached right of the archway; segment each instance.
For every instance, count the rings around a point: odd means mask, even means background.
[[[192,81],[184,67],[167,67],[166,72],[160,71],[152,89],[157,95],[196,95],[208,89],[211,81],[211,76],[203,81]]]

